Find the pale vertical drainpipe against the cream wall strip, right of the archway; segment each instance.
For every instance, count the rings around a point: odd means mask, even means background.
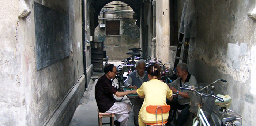
[[[151,44],[152,44],[152,57],[154,57],[154,58],[156,58],[156,51],[155,51],[155,48],[156,48],[156,38],[155,38],[155,34],[156,34],[156,28],[155,28],[155,0],[153,0],[152,1],[152,11],[153,11],[153,13],[152,13],[152,20],[153,20],[153,22],[152,22],[152,24],[153,24],[153,28],[152,28],[152,30],[153,30],[153,36],[152,36],[152,42],[151,42]]]

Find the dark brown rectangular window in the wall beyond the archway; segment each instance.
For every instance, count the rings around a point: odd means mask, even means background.
[[[106,21],[106,35],[120,35],[120,21]]]

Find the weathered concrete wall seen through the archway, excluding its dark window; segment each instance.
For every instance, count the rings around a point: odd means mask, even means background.
[[[121,4],[123,2],[114,1],[109,4]],[[124,3],[123,3],[124,4]],[[116,5],[120,6],[120,5]],[[105,6],[107,7],[107,6]],[[110,7],[110,6],[108,6]],[[106,8],[105,8],[106,9]],[[131,7],[108,8],[110,10],[132,10]],[[129,14],[101,14],[99,18],[132,18]],[[95,29],[95,41],[104,41],[104,50],[106,50],[109,60],[123,60],[131,55],[126,55],[129,48],[140,48],[139,28],[135,25],[136,20],[124,19],[98,19],[99,24],[106,20],[120,20],[120,35],[106,35],[105,29],[99,26]],[[105,23],[106,24],[106,23]],[[131,51],[131,50],[129,50]]]

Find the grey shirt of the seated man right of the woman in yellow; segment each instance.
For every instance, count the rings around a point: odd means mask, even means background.
[[[185,80],[184,84],[189,85],[189,86],[196,85],[197,81],[196,81],[195,76],[193,76],[193,75],[188,73],[187,79]],[[180,85],[182,87],[184,87],[184,85],[182,84],[182,78],[177,78],[172,83],[170,83],[170,87],[174,87],[178,91],[182,91],[182,92],[185,92],[185,93],[190,93],[190,91],[188,91],[188,90],[181,90],[180,89]],[[189,104],[190,103],[190,99],[189,98],[184,98],[184,97],[182,97],[180,95],[178,95],[177,99],[178,99],[178,103],[180,105],[185,105],[185,104]]]

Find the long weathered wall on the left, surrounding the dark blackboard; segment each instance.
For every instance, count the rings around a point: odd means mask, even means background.
[[[81,1],[35,2],[69,17],[70,55],[37,71],[34,1],[1,1],[0,125],[68,125],[84,92]]]

